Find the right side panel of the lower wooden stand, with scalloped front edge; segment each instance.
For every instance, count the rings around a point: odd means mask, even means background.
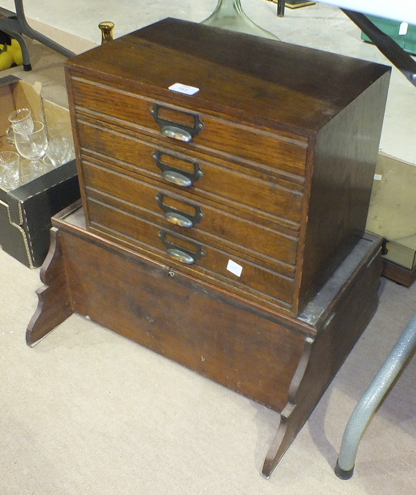
[[[333,306],[327,323],[318,327],[318,337],[306,338],[302,359],[290,384],[288,403],[264,460],[264,477],[273,473],[370,322],[379,302],[381,268],[380,256],[364,264],[342,299]]]

